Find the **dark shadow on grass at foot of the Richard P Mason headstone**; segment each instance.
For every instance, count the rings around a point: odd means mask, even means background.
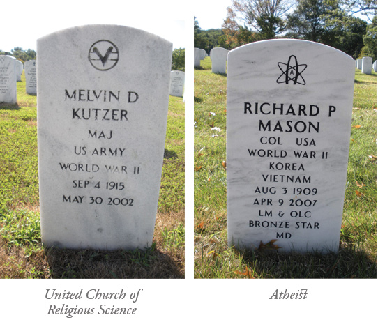
[[[267,278],[377,278],[377,264],[368,254],[360,250],[342,248],[337,254],[308,253],[283,254],[240,250],[248,267],[258,277]]]

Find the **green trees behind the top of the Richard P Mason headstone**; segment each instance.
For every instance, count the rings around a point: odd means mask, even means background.
[[[194,44],[234,49],[273,38],[310,40],[354,59],[377,59],[377,0],[232,0],[221,29],[203,31],[195,17]]]

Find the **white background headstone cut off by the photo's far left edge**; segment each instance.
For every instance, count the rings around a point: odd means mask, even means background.
[[[15,57],[0,55],[0,103],[17,102],[16,70]]]

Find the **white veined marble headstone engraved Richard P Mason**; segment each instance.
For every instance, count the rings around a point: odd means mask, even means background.
[[[229,244],[338,250],[354,70],[347,54],[304,40],[229,52]]]

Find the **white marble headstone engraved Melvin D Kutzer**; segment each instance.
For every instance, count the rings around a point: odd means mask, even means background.
[[[47,246],[152,244],[172,43],[116,25],[38,39],[40,217]]]

